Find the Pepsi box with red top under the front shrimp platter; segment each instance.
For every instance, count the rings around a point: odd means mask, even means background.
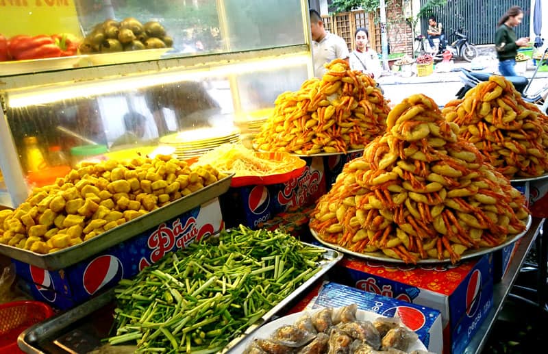
[[[340,283],[441,312],[443,353],[463,353],[493,307],[493,255],[451,264],[412,266],[345,257]]]

